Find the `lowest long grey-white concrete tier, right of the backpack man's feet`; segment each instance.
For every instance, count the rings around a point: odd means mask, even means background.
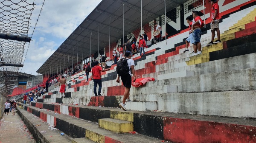
[[[157,101],[158,112],[256,118],[256,90],[130,95],[132,101]],[[133,102],[131,102],[133,103]],[[127,104],[125,107],[128,108]],[[216,108],[218,107],[218,108]],[[134,110],[138,110],[134,109]],[[154,111],[154,110],[151,110]]]

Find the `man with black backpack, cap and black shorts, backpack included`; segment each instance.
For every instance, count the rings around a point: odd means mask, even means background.
[[[134,60],[131,59],[131,52],[125,51],[125,59],[118,62],[117,67],[116,67],[116,72],[118,74],[116,82],[117,83],[120,82],[119,78],[121,76],[122,83],[125,87],[124,97],[123,97],[122,102],[119,104],[119,106],[125,111],[127,110],[125,108],[125,101],[128,98],[128,96],[130,94],[130,89],[131,89],[131,73],[134,76],[134,81],[136,80],[134,66],[135,66]]]

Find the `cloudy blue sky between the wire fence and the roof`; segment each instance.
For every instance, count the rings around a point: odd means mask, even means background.
[[[29,36],[32,34],[43,1],[35,0],[36,6],[30,20]],[[24,67],[22,70],[20,68],[20,72],[37,75],[38,68],[100,2],[101,0],[45,0]]]

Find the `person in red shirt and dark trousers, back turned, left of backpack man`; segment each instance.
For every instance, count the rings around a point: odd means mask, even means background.
[[[100,72],[105,72],[110,70],[110,68],[102,70],[102,67],[99,66],[99,62],[95,61],[95,66],[92,68],[92,79],[94,82],[94,95],[95,96],[101,96],[100,92],[101,92],[101,88],[102,88],[102,80],[101,80],[101,73]],[[99,91],[97,94],[97,84],[99,84]]]

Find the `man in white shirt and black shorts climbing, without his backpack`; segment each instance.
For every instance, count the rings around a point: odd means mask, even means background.
[[[126,107],[125,107],[125,102],[131,101],[130,98],[129,98],[130,89],[131,89],[131,74],[133,74],[133,76],[134,76],[134,81],[136,80],[135,69],[134,69],[135,64],[134,64],[134,60],[131,59],[131,54],[132,53],[130,51],[125,51],[125,59],[127,59],[127,64],[128,64],[128,67],[130,68],[130,71],[129,71],[129,74],[127,74],[125,76],[121,76],[122,83],[125,87],[125,93],[124,93],[124,96],[123,96],[123,100],[119,104],[119,106],[125,111],[127,110]],[[120,76],[119,75],[117,75],[116,82],[117,83],[120,82]]]

